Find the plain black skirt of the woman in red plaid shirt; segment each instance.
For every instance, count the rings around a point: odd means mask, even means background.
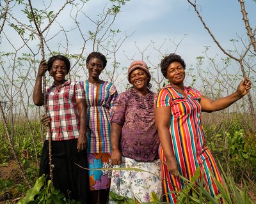
[[[88,171],[86,151],[77,152],[77,139],[52,141],[53,186],[70,200],[88,203]],[[76,164],[79,164],[77,166]],[[49,178],[49,141],[45,140],[40,160],[39,176]]]

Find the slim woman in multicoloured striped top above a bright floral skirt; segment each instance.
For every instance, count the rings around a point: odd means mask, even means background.
[[[90,177],[90,203],[107,203],[111,182],[111,171],[93,170],[109,168],[111,158],[110,109],[117,96],[116,87],[111,82],[100,80],[106,67],[103,54],[92,52],[86,59],[88,80],[83,82],[87,104],[87,158]]]

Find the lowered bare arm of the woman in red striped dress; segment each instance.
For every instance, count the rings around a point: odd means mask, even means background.
[[[173,154],[169,132],[171,108],[170,106],[159,107],[155,108],[154,112],[159,140],[164,150],[164,156],[166,157],[167,169],[172,175],[177,176],[179,175],[179,170],[177,160]]]

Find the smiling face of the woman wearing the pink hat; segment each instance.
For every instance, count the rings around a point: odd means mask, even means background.
[[[130,75],[131,84],[138,91],[147,90],[148,76],[142,69],[135,69]]]

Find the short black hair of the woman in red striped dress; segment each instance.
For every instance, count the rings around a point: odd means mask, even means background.
[[[182,67],[185,69],[186,68],[186,64],[184,62],[184,60],[180,57],[180,55],[177,55],[175,53],[171,53],[170,55],[164,57],[160,63],[160,67],[161,67],[161,72],[163,74],[163,76],[166,78],[166,72],[168,69],[168,66],[172,63],[172,62],[180,62],[180,64],[182,65]]]

